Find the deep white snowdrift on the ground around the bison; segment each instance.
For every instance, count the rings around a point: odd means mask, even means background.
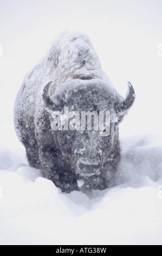
[[[87,196],[1,147],[0,244],[162,244],[161,154],[161,137],[123,138],[116,186]]]

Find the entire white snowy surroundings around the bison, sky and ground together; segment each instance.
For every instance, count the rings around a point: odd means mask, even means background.
[[[76,4],[1,1],[0,245],[161,245],[161,1]],[[29,167],[13,125],[23,77],[67,28],[89,35],[123,96],[126,80],[136,93],[120,125],[116,185],[89,195],[61,193]]]

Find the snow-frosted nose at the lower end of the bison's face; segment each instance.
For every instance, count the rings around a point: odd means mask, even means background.
[[[80,174],[84,176],[92,176],[100,170],[100,164],[79,164]]]

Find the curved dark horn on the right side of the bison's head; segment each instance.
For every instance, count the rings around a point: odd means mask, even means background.
[[[122,117],[126,112],[128,112],[129,108],[132,107],[135,99],[135,92],[133,86],[130,82],[128,82],[128,90],[126,93],[126,99],[122,101],[120,104],[115,106],[115,112],[117,117]]]

